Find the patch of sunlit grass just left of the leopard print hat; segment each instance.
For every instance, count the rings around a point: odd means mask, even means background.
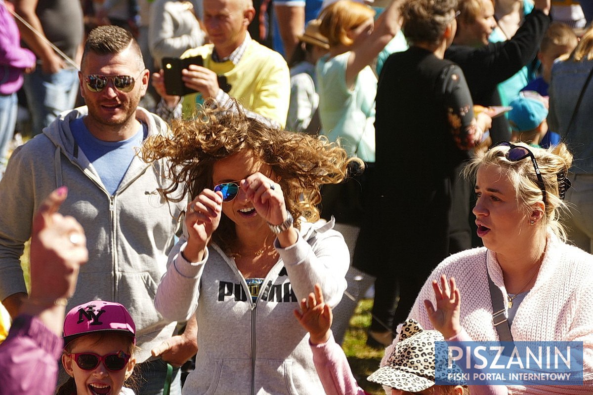
[[[366,345],[366,330],[371,325],[371,309],[372,299],[359,301],[346,330],[342,348],[358,385],[369,394],[384,395],[385,392],[379,384],[366,380],[366,377],[379,368],[383,357],[383,350]]]

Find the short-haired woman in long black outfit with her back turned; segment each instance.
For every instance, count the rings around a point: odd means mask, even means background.
[[[457,0],[404,3],[410,49],[388,57],[378,84],[375,202],[354,261],[377,277],[369,338],[382,344],[391,343],[391,330],[449,254],[454,171],[490,127],[486,114],[474,119],[461,69],[443,59],[455,36],[456,7]]]

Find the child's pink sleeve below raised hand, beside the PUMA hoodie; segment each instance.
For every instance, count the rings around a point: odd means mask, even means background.
[[[365,395],[352,375],[346,354],[333,338],[323,344],[311,346],[315,369],[327,395]]]

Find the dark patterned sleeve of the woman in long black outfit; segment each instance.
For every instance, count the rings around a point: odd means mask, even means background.
[[[466,78],[459,66],[450,65],[443,69],[441,86],[451,136],[459,149],[471,149],[476,143],[477,134],[474,106]]]

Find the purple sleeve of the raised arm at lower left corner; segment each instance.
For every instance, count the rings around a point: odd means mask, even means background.
[[[62,338],[37,317],[21,315],[0,345],[0,395],[52,395]]]

